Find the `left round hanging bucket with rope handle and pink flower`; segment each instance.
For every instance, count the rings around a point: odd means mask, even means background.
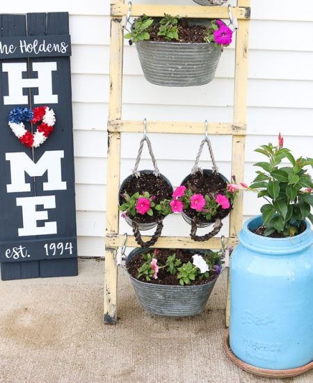
[[[152,157],[154,170],[138,171],[138,164],[141,160],[141,153],[145,142],[147,142],[149,153]],[[160,237],[163,229],[163,219],[166,215],[161,211],[155,210],[154,207],[163,200],[170,200],[172,192],[173,188],[170,181],[159,172],[157,161],[152,152],[150,139],[144,134],[138,150],[134,171],[131,175],[125,178],[118,192],[120,210],[125,211],[123,217],[125,217],[127,224],[133,228],[136,242],[140,244],[141,247],[152,246]],[[145,195],[145,193],[148,193],[148,195]],[[135,194],[141,196],[143,210],[138,207],[138,203],[140,202],[138,198],[135,198],[134,200],[136,207],[133,203],[132,209],[126,209],[125,203],[127,204],[129,202],[127,199],[129,200],[129,198]],[[152,235],[152,238],[147,242],[143,242],[140,230],[150,230],[156,226],[157,228],[154,235]]]

